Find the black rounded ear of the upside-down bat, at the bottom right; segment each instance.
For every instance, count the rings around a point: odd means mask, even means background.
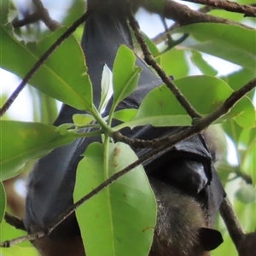
[[[199,241],[205,251],[212,251],[223,242],[223,238],[218,230],[201,228],[199,230]]]

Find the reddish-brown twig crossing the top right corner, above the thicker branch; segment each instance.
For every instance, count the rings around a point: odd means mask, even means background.
[[[247,17],[256,17],[256,8],[247,4],[239,4],[230,1],[219,0],[182,0],[190,3],[201,3],[207,6],[213,6],[218,9],[225,9],[230,12],[244,14]]]

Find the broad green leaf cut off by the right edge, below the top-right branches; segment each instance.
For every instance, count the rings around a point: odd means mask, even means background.
[[[209,55],[217,56],[241,67],[255,71],[256,31],[227,24],[197,23],[177,28],[174,32],[186,32],[199,44],[189,45]]]

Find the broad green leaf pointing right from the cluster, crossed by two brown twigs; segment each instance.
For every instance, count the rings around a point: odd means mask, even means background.
[[[230,86],[223,80],[210,76],[186,77],[177,79],[174,83],[202,116],[212,113],[232,93]],[[239,125],[244,127],[255,125],[252,102],[247,97],[243,97],[230,110],[230,113],[218,119],[218,122],[230,118],[234,118]],[[125,125],[133,128],[137,125],[148,124],[154,126],[191,125],[191,119],[172,95],[171,90],[166,85],[161,85],[145,96],[136,117]]]

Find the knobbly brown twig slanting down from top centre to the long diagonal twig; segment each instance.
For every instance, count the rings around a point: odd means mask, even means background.
[[[181,106],[189,113],[189,116],[194,118],[201,118],[201,114],[198,113],[195,108],[187,101],[187,99],[183,96],[181,90],[177,88],[175,84],[173,84],[172,79],[170,79],[163,69],[160,67],[157,61],[155,61],[154,56],[151,54],[150,49],[148,49],[148,45],[143,38],[143,34],[140,30],[140,27],[135,20],[133,15],[129,16],[131,28],[137,38],[137,42],[143,50],[143,55],[145,56],[145,61],[148,65],[152,66],[156,73],[160,76],[163,82],[167,85],[167,87],[172,91],[173,95],[177,98],[177,101],[181,104]]]

